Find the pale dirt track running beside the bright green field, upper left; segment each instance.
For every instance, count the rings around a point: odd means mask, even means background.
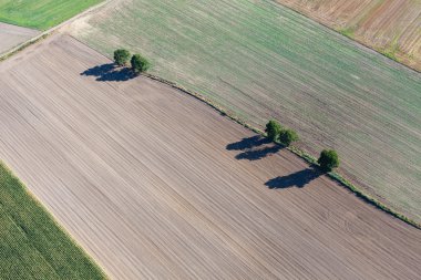
[[[49,37],[52,33],[54,33],[57,30],[63,28],[64,25],[71,23],[72,21],[74,21],[74,20],[76,20],[76,19],[85,15],[86,13],[90,13],[90,12],[92,12],[92,11],[94,11],[94,10],[96,10],[96,9],[105,6],[105,4],[107,4],[111,1],[113,1],[113,0],[105,0],[105,1],[102,1],[102,2],[100,2],[97,4],[95,4],[95,6],[92,6],[92,7],[88,8],[86,10],[82,11],[81,13],[78,13],[78,14],[73,15],[69,20],[65,20],[65,21],[59,23],[58,25],[52,27],[52,28],[50,28],[50,29],[41,32],[40,34],[38,34],[38,35],[35,35],[35,37],[33,37],[33,38],[31,38],[31,39],[29,39],[29,40],[27,40],[27,41],[24,41],[24,42],[22,42],[22,43],[20,43],[18,45],[16,45],[16,46],[13,46],[12,49],[10,49],[10,50],[8,50],[8,51],[6,51],[3,53],[0,53],[0,62],[9,59],[10,56],[14,55],[16,53],[18,53],[20,51],[23,51],[28,46],[30,46],[30,45],[32,45],[32,44],[34,44],[34,43],[37,43],[37,42],[45,39],[47,37]],[[12,25],[16,25],[16,24],[12,24]],[[16,27],[20,27],[20,25],[16,25]],[[24,28],[24,27],[21,27],[21,28]]]

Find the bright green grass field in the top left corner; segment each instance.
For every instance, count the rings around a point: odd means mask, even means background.
[[[0,21],[47,30],[102,0],[0,0]]]

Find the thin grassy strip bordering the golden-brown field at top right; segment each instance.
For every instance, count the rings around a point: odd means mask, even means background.
[[[358,38],[353,38],[353,37],[351,37],[350,34],[348,34],[347,32],[343,32],[343,31],[341,31],[341,30],[335,29],[333,27],[330,27],[330,25],[328,25],[328,24],[326,24],[326,23],[324,23],[324,22],[321,22],[321,21],[318,21],[318,20],[316,20],[316,19],[314,19],[314,18],[310,18],[308,14],[306,14],[306,13],[299,11],[299,10],[296,10],[296,9],[294,9],[292,7],[288,7],[288,6],[286,6],[286,4],[283,4],[283,3],[278,2],[278,1],[276,1],[276,0],[273,0],[273,2],[274,2],[275,4],[279,4],[279,6],[284,7],[285,9],[288,9],[288,10],[290,10],[290,11],[292,11],[292,12],[296,12],[296,13],[298,13],[298,14],[305,17],[306,19],[311,20],[311,21],[315,22],[316,24],[320,24],[320,25],[322,25],[322,27],[325,27],[325,28],[327,28],[327,29],[329,29],[329,30],[331,30],[331,31],[335,31],[336,33],[338,33],[338,34],[340,34],[340,35],[342,35],[342,37],[345,37],[345,38],[347,38],[348,40],[351,40],[351,41],[353,41],[353,42],[357,42],[358,44],[360,44],[360,45],[362,45],[362,46],[364,46],[364,48],[367,48],[367,49],[369,49],[369,50],[371,50],[371,51],[373,51],[373,52],[377,52],[377,53],[383,55],[384,58],[387,58],[387,59],[389,59],[389,60],[391,60],[391,61],[394,61],[394,62],[397,62],[397,63],[399,63],[399,64],[401,64],[401,65],[403,65],[403,66],[405,66],[405,68],[408,68],[408,69],[410,69],[410,70],[412,70],[412,71],[415,71],[417,73],[421,73],[421,69],[415,68],[415,65],[410,65],[410,64],[404,63],[403,61],[399,60],[399,58],[397,58],[396,55],[390,55],[390,54],[387,53],[387,52],[382,52],[381,50],[378,50],[378,49],[376,49],[374,46],[369,45],[367,42],[364,42],[364,41],[362,41],[362,40],[358,40]]]

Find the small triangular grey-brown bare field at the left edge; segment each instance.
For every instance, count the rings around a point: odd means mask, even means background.
[[[0,22],[0,54],[38,35],[40,31]]]

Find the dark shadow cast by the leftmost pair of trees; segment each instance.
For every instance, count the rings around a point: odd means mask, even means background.
[[[96,81],[100,82],[124,82],[136,76],[130,69],[117,68],[114,63],[91,68],[81,75],[96,76]]]

